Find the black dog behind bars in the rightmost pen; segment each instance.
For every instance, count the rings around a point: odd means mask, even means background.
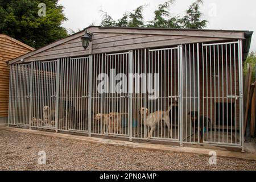
[[[200,116],[198,114],[198,111],[191,111],[188,113],[191,117],[192,127],[195,126],[195,130],[199,132],[199,139],[200,142],[203,142],[203,131],[204,133],[207,133],[210,128],[210,119],[207,117]],[[199,118],[199,125],[198,125],[198,118]],[[205,131],[205,130],[206,131]]]

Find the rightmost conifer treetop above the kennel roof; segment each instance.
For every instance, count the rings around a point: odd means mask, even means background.
[[[182,19],[184,28],[201,29],[206,27],[207,20],[201,20],[200,4],[203,4],[203,0],[197,0],[189,6],[186,15]]]

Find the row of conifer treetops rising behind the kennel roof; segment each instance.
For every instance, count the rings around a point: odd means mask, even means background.
[[[111,27],[155,27],[155,28],[204,28],[207,20],[201,20],[200,4],[203,0],[197,0],[189,6],[186,15],[180,18],[179,15],[170,15],[168,8],[175,3],[176,0],[169,0],[158,5],[158,9],[154,11],[154,19],[144,24],[143,9],[145,6],[139,6],[129,14],[124,14],[117,22],[110,15],[104,12],[101,26]]]

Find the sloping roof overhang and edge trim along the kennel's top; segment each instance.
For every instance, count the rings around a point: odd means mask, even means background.
[[[222,39],[243,39],[243,59],[246,59],[250,49],[251,35],[253,32],[250,31],[232,31],[232,30],[195,30],[195,29],[173,29],[173,28],[131,28],[131,27],[100,27],[100,26],[89,26],[85,28],[88,32],[93,33],[113,33],[113,34],[151,34],[151,35],[170,35],[170,36],[192,36],[195,38],[222,38]],[[47,46],[36,49],[26,55],[17,57],[9,61],[9,64],[14,64],[20,60],[24,60],[30,56],[36,55],[37,53],[46,51],[52,47],[59,46],[72,39],[79,38],[84,35],[84,30],[79,31],[75,34],[69,35],[66,38],[57,40]],[[60,57],[61,58],[61,57]]]

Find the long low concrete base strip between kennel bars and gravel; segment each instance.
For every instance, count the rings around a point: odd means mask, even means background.
[[[155,150],[155,151],[167,151],[167,152],[187,152],[192,154],[200,154],[200,155],[208,155],[210,151],[215,151],[217,156],[223,156],[227,158],[239,158],[239,159],[248,159],[248,160],[256,160],[256,152],[255,152],[255,142],[250,143],[250,147],[245,148],[245,153],[239,151],[230,151],[226,148],[222,147],[214,147],[214,148],[201,148],[201,147],[180,147],[173,146],[169,144],[155,144],[155,143],[142,143],[142,142],[129,142],[126,140],[117,140],[117,139],[106,139],[106,138],[98,138],[98,137],[84,137],[78,135],[71,134],[63,134],[63,133],[53,133],[47,131],[39,131],[39,130],[28,130],[28,129],[18,129],[12,127],[0,127],[1,130],[14,131],[14,132],[22,132],[27,134],[35,134],[42,135],[44,137],[55,137],[55,138],[65,138],[71,140],[79,140],[90,143],[97,144],[108,144],[112,146],[123,146],[123,147],[131,147],[138,148],[143,150]],[[160,142],[159,142],[160,143]],[[250,148],[252,150],[250,150]]]

